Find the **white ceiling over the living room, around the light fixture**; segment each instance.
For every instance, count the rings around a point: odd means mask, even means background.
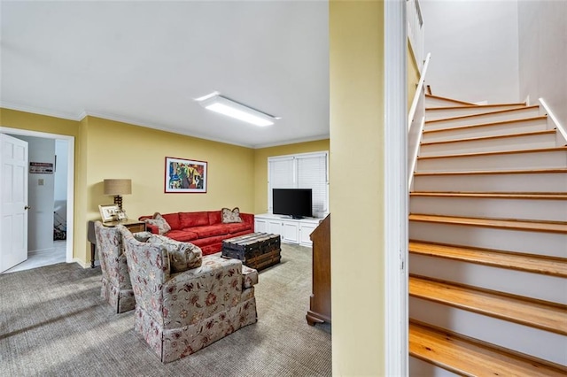
[[[326,1],[2,1],[5,108],[258,148],[329,137]],[[217,90],[282,119],[202,108]],[[0,125],[1,126],[1,125]]]

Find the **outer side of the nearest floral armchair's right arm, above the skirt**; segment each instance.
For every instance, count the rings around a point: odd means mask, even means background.
[[[242,262],[216,256],[198,268],[176,273],[164,284],[164,327],[198,323],[241,302]]]

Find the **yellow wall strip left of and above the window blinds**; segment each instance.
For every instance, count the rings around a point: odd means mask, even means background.
[[[254,213],[268,212],[268,158],[329,150],[329,139],[254,150]]]

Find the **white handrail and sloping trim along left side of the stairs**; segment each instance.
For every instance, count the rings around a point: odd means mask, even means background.
[[[416,169],[417,153],[419,152],[419,143],[422,138],[423,124],[425,120],[425,75],[427,74],[427,67],[431,59],[431,52],[427,54],[423,63],[423,69],[419,81],[417,82],[416,95],[411,103],[408,112],[408,189],[411,189],[414,170]],[[419,129],[416,129],[416,112],[419,106]]]

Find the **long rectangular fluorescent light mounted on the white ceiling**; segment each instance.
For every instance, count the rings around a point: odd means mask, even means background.
[[[195,99],[195,101],[208,110],[243,120],[254,126],[271,126],[274,124],[276,119],[280,119],[265,112],[259,112],[245,104],[239,104],[225,96],[221,96],[218,92],[213,92],[209,95],[199,97]]]

